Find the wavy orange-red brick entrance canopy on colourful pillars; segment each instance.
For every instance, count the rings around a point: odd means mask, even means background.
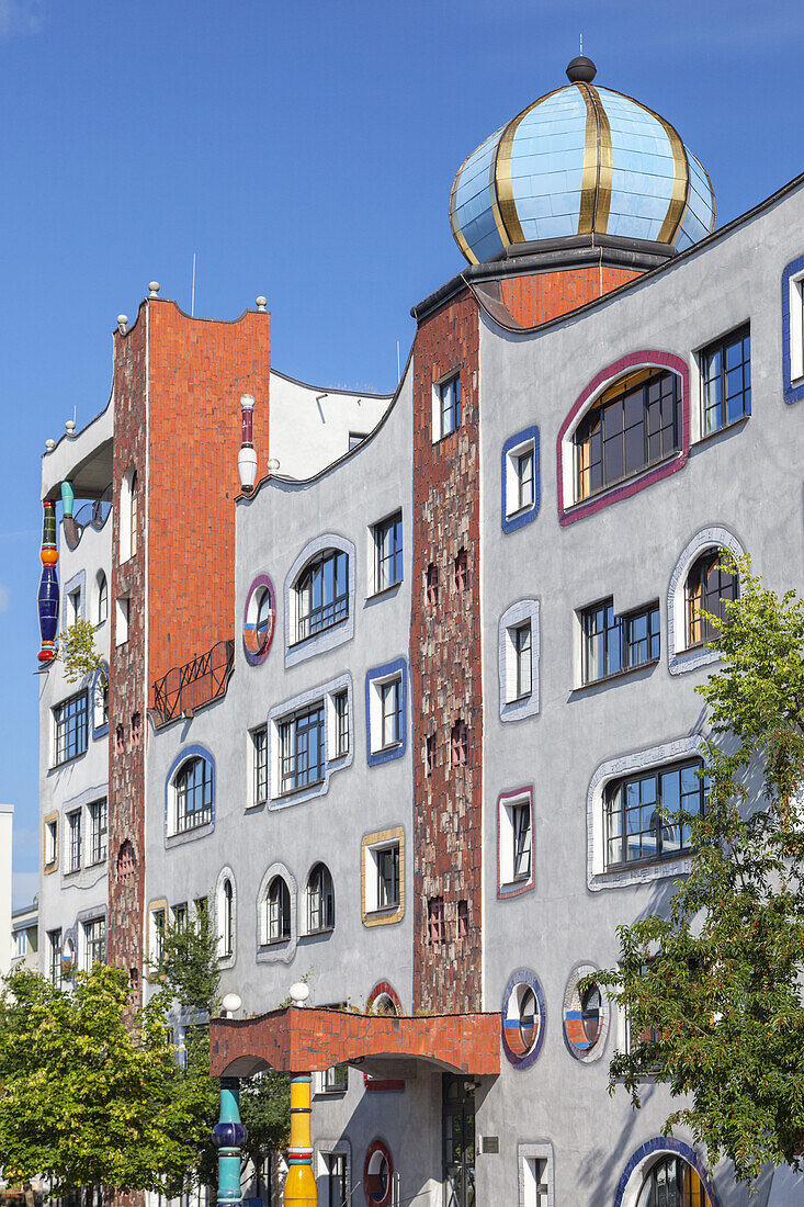
[[[324,1072],[333,1065],[423,1060],[474,1077],[500,1072],[499,1014],[414,1018],[287,1007],[256,1019],[214,1019],[209,1028],[212,1077]]]

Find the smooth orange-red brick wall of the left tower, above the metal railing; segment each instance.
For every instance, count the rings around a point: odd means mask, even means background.
[[[151,301],[148,684],[234,632],[240,395],[251,393],[257,478],[268,459],[270,315],[191,319]]]

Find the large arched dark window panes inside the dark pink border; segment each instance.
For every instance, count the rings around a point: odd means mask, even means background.
[[[681,448],[681,386],[675,373],[645,373],[608,390],[573,437],[576,497],[639,473]]]

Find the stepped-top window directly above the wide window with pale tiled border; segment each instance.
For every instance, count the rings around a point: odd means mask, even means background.
[[[613,599],[601,600],[582,611],[581,625],[584,683],[595,683],[659,658],[658,600],[627,616],[614,614]]]

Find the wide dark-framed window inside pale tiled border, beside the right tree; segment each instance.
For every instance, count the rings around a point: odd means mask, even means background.
[[[606,868],[675,858],[689,850],[691,823],[699,816],[705,782],[700,759],[614,780],[606,788]]]

